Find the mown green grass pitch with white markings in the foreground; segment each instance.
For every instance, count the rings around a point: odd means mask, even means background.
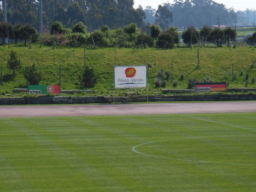
[[[256,113],[0,118],[0,191],[256,191]]]

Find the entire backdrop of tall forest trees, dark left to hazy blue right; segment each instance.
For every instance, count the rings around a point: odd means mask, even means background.
[[[6,0],[7,20],[15,25],[29,23],[39,30],[39,0]],[[49,29],[55,21],[60,21],[68,28],[78,22],[86,23],[91,29],[117,29],[136,23],[138,27],[147,23],[156,23],[163,30],[171,25],[179,29],[193,25],[197,28],[204,25],[234,26],[237,22],[254,22],[256,10],[247,9],[235,12],[224,4],[213,0],[174,0],[163,3],[158,9],[147,6],[134,8],[134,0],[42,0],[43,23]],[[220,20],[218,20],[218,16]],[[0,0],[0,22],[4,21],[3,0]]]

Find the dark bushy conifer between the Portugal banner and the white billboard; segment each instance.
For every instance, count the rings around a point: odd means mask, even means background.
[[[96,85],[98,80],[98,75],[95,73],[93,67],[84,67],[82,75],[79,75],[79,81],[81,87],[92,88]]]

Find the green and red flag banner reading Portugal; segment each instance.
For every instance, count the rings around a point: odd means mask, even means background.
[[[28,94],[60,94],[59,85],[28,85]]]

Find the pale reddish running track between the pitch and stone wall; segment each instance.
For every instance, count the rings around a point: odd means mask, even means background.
[[[256,112],[256,102],[0,106],[0,117]]]

